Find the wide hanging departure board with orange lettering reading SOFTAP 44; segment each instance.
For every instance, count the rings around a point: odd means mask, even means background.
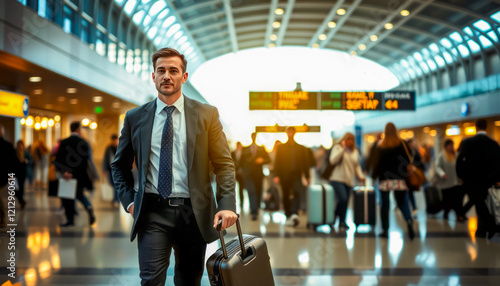
[[[250,92],[250,110],[415,110],[415,92]]]

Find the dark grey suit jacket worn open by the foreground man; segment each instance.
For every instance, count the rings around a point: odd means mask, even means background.
[[[131,241],[140,227],[138,222],[142,209],[147,207],[142,202],[155,110],[156,100],[153,100],[126,113],[115,159],[111,164],[115,188],[123,207],[127,211],[126,208],[134,203]],[[218,238],[217,231],[212,227],[215,214],[220,210],[236,212],[234,164],[217,109],[184,96],[184,111],[189,194],[198,228],[205,241],[210,243]],[[134,159],[138,171],[138,189],[134,189],[132,176]],[[210,163],[217,181],[215,198],[210,180]]]

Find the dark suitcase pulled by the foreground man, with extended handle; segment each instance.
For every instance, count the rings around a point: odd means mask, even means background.
[[[239,219],[236,227],[238,237],[227,244],[219,231],[222,247],[207,260],[210,285],[273,286],[274,278],[266,242],[260,237],[243,235]]]

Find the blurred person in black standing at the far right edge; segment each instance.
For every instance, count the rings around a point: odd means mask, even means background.
[[[500,182],[500,146],[486,133],[487,122],[476,121],[477,134],[462,141],[457,157],[456,171],[464,182],[464,189],[476,206],[476,237],[492,238],[499,229],[489,213],[485,200],[488,189]]]

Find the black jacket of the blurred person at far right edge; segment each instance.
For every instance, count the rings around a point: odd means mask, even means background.
[[[456,171],[465,183],[488,188],[500,181],[500,146],[486,134],[477,134],[460,144]]]

